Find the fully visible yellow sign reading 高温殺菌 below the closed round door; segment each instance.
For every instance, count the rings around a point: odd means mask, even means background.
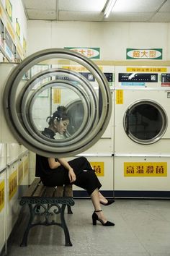
[[[124,176],[167,176],[166,162],[125,162]]]

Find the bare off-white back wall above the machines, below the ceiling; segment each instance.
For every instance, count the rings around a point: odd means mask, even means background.
[[[163,48],[170,59],[170,23],[28,21],[30,55],[45,48],[99,47],[102,60],[125,60],[126,48]]]

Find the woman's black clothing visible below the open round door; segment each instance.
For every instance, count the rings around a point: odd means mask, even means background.
[[[68,163],[76,174],[76,181],[73,183],[70,183],[68,170],[66,168],[59,166],[58,168],[51,169],[48,164],[48,158],[41,155],[36,155],[35,176],[39,176],[45,186],[53,187],[63,184],[75,184],[85,189],[89,195],[91,195],[95,189],[102,187],[102,184],[99,182],[99,179],[86,158],[75,158],[68,161]]]

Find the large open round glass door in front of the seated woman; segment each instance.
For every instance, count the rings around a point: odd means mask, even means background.
[[[18,142],[35,153],[59,158],[81,153],[99,140],[112,112],[111,98],[106,77],[93,61],[52,48],[28,56],[12,71],[4,112]],[[66,108],[67,130],[46,136],[59,106]]]

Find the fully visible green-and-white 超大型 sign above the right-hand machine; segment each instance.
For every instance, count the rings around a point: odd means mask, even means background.
[[[126,49],[126,59],[162,59],[162,49]]]

